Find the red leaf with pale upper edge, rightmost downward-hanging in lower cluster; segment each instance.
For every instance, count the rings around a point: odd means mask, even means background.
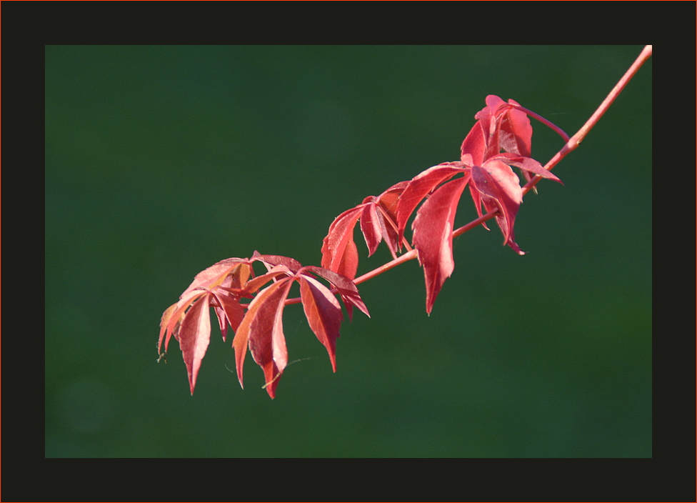
[[[300,275],[300,296],[307,322],[319,342],[324,344],[331,368],[336,372],[336,339],[339,337],[341,307],[328,288],[309,276]]]

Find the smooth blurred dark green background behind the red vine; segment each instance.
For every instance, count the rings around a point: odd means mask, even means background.
[[[641,46],[45,51],[46,457],[651,457],[651,60],[526,196],[528,254],[460,236],[430,317],[409,262],[361,285],[336,374],[286,308],[275,400],[215,326],[193,397],[174,340],[156,364],[202,269],[319,265],[341,211],[458,159],[487,94],[573,134]],[[533,127],[544,164],[562,141]],[[359,274],[389,259],[357,238]]]

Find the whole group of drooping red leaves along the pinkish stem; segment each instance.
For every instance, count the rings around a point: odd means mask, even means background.
[[[344,303],[349,319],[353,307],[369,316],[354,281],[358,271],[358,247],[353,239],[356,225],[366,241],[368,256],[375,253],[382,241],[393,259],[403,249],[416,251],[426,283],[426,312],[430,313],[455,267],[453,224],[465,189],[479,216],[495,212],[503,244],[523,254],[514,233],[523,188],[512,168],[521,171],[523,181],[531,181],[534,176],[560,181],[531,158],[533,131],[528,113],[531,114],[512,99],[506,102],[498,96],[487,96],[486,106],[475,115],[476,123],[462,142],[460,159],[432,166],[379,196],[366,197],[358,206],[337,216],[324,237],[321,267],[304,267],[289,257],[255,251],[249,259],[226,259],[197,274],[179,301],[162,315],[159,351],[164,344],[166,352],[174,336],[181,347],[193,393],[210,341],[212,307],[223,339],[228,328],[235,333],[232,345],[240,384],[243,385],[244,360],[249,349],[254,362],[264,371],[266,392],[274,398],[288,364],[283,312],[287,304],[296,302],[289,299],[289,292],[297,282],[299,302],[309,327],[326,347],[336,372],[336,339],[344,319],[336,296]],[[405,231],[415,212],[410,244]],[[264,274],[254,273],[255,262],[264,264]]]

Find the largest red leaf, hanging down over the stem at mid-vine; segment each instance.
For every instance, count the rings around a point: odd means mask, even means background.
[[[466,174],[438,187],[418,209],[412,225],[413,244],[426,279],[426,312],[429,314],[443,282],[455,269],[453,222],[458,201],[469,179]]]

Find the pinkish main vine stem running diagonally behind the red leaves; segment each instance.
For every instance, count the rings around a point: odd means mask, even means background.
[[[576,150],[578,145],[581,144],[581,141],[586,138],[586,135],[588,135],[588,132],[593,129],[593,126],[598,124],[598,121],[601,119],[603,114],[610,108],[610,105],[615,101],[617,96],[623,91],[625,86],[628,84],[628,82],[631,80],[631,78],[636,74],[638,69],[641,68],[641,66],[646,63],[646,60],[648,60],[651,56],[653,55],[653,46],[648,45],[643,48],[641,51],[641,54],[637,57],[636,61],[633,62],[633,64],[629,67],[629,69],[626,71],[626,73],[622,76],[622,78],[617,82],[617,84],[613,87],[612,91],[610,91],[610,94],[606,97],[606,99],[603,100],[603,102],[598,106],[598,109],[596,109],[595,112],[593,112],[593,115],[591,115],[591,118],[586,121],[586,124],[583,124],[581,126],[581,129],[579,129],[576,134],[571,136],[570,139],[566,142],[566,144],[561,148],[560,151],[558,151],[554,156],[548,161],[547,164],[545,164],[544,169],[547,169],[548,171],[551,171],[554,166],[556,166],[561,159],[566,157],[568,154],[570,154],[572,151]],[[558,128],[556,128],[558,129]],[[555,129],[555,130],[556,130]],[[534,186],[536,186],[539,181],[542,179],[542,176],[536,175],[528,181],[527,184],[523,186],[523,195],[527,194],[529,191],[533,189]],[[483,224],[483,222],[487,220],[493,219],[494,216],[498,214],[498,209],[495,209],[493,211],[489,211],[487,214],[484,214],[480,216],[478,219],[475,219],[471,221],[469,224],[463,225],[459,227],[458,229],[455,229],[453,231],[453,238],[457,236],[461,236],[461,234],[464,234],[465,232],[474,229],[476,226]],[[406,253],[400,255],[396,259],[391,260],[390,262],[387,262],[386,264],[381,265],[380,267],[377,267],[376,269],[373,269],[371,272],[366,272],[366,274],[363,274],[362,276],[357,277],[356,279],[353,280],[353,283],[355,284],[361,284],[363,282],[368,281],[368,279],[372,279],[379,274],[382,274],[383,272],[389,271],[393,267],[397,267],[400,264],[403,264],[404,262],[408,262],[412,259],[417,258],[417,253],[415,249],[409,250]],[[337,293],[336,289],[331,289],[331,292]],[[299,304],[301,302],[301,299],[287,299],[286,304]]]

